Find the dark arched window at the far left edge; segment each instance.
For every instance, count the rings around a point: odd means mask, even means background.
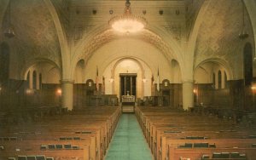
[[[9,79],[9,45],[0,45],[0,83],[4,84]]]

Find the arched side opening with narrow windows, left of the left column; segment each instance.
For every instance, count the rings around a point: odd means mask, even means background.
[[[59,106],[61,102],[61,72],[59,68],[49,61],[37,61],[26,71],[24,77],[30,86],[26,89],[27,105]]]

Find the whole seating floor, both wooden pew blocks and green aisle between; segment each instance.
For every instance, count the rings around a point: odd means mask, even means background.
[[[1,123],[3,160],[253,160],[256,124],[214,111],[120,106],[42,112]]]

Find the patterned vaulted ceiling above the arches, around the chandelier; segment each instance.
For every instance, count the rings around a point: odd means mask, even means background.
[[[125,0],[12,0],[10,2],[11,23],[16,35],[9,39],[1,34],[1,42],[8,42],[15,49],[22,63],[29,63],[34,59],[47,59],[60,67],[63,56],[60,31],[67,40],[66,47],[70,50],[68,54],[74,54],[81,48],[79,52],[84,52],[82,53],[84,59],[89,58],[90,56],[86,54],[92,54],[102,44],[117,37],[109,30],[108,20],[113,15],[123,14],[125,8]],[[9,0],[0,2],[1,32],[8,26],[8,3]],[[172,54],[173,50],[169,49],[169,45],[171,48],[172,45],[183,48],[183,43],[189,41],[189,35],[204,3],[204,0],[131,1],[132,13],[142,15],[148,20],[146,31],[137,37],[152,43],[164,54]],[[237,37],[241,31],[241,4],[241,0],[212,0],[207,6],[207,12],[202,17],[199,35],[196,38],[195,66],[208,57],[234,59],[229,57],[236,52],[236,43],[241,42]],[[51,5],[52,8],[49,7]],[[57,16],[53,16],[53,13]],[[247,31],[253,35],[247,13],[245,17]],[[61,30],[56,27],[56,21],[60,22]],[[104,35],[104,32],[108,34]],[[97,39],[92,40],[96,36]],[[168,42],[170,38],[175,43]],[[159,39],[164,40],[159,41]]]

